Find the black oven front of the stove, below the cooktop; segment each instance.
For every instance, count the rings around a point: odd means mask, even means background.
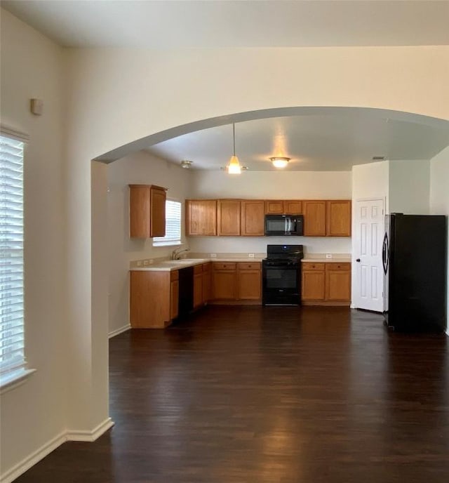
[[[300,263],[262,263],[262,305],[300,305]]]

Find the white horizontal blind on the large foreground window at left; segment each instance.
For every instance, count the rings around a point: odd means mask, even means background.
[[[25,366],[23,147],[0,135],[0,378]]]

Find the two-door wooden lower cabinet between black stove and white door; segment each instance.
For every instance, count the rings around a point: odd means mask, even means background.
[[[302,263],[302,305],[350,305],[351,263]]]

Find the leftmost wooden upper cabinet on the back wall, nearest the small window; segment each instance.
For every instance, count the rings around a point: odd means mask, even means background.
[[[185,204],[187,236],[215,236],[217,234],[217,200],[187,199]]]

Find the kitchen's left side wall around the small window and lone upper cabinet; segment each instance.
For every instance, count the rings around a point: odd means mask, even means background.
[[[107,225],[109,274],[109,333],[129,324],[129,263],[142,258],[161,258],[173,251],[170,247],[153,247],[152,239],[129,237],[128,185],[158,185],[168,188],[167,198],[182,201],[187,198],[192,172],[173,163],[153,157],[145,151],[107,165]],[[184,241],[184,223],[182,223]]]

